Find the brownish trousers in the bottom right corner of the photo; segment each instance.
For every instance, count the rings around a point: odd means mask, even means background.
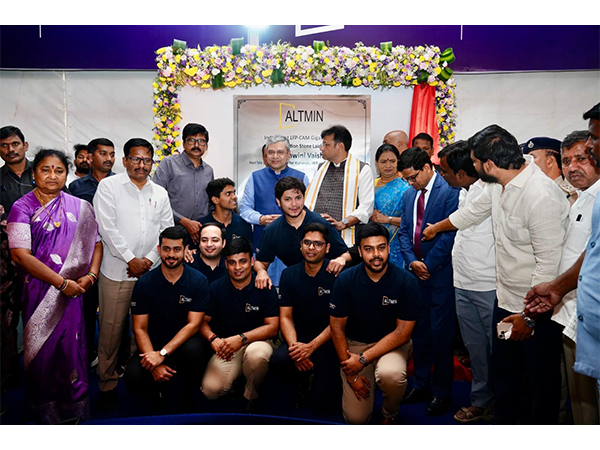
[[[576,345],[563,336],[565,368],[571,394],[571,409],[575,425],[598,425],[598,383],[594,378],[575,372]]]

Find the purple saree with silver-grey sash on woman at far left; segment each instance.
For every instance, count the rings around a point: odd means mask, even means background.
[[[88,272],[94,253],[98,228],[93,209],[64,192],[46,209],[33,192],[13,205],[7,227],[10,248],[29,249],[58,274],[76,280]],[[60,220],[59,227],[50,215]],[[73,417],[89,419],[82,297],[67,297],[27,275],[22,311],[25,397],[31,420],[52,424]]]

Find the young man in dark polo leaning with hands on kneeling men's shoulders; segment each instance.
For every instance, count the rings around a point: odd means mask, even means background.
[[[304,206],[304,183],[294,177],[285,177],[275,185],[275,199],[283,213],[271,222],[263,231],[260,244],[256,249],[256,287],[269,289],[273,285],[267,274],[267,268],[275,257],[286,266],[292,266],[302,261],[300,251],[300,236],[302,228],[313,222],[325,224],[330,229],[330,248],[327,256],[331,258],[327,271],[338,275],[351,260],[346,243],[337,230],[320,214],[310,211]]]

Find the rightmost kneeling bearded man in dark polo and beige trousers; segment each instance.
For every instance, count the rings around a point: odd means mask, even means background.
[[[358,231],[363,263],[343,272],[331,295],[331,338],[343,384],[342,410],[351,424],[369,422],[374,382],[383,391],[384,424],[394,424],[406,390],[406,362],[418,315],[419,288],[388,264],[389,233],[378,223]]]

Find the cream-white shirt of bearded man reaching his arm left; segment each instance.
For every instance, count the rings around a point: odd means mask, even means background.
[[[569,202],[560,188],[524,155],[527,166],[503,189],[486,184],[468,207],[449,217],[459,230],[492,217],[496,241],[498,306],[518,313],[532,286],[558,275]]]

